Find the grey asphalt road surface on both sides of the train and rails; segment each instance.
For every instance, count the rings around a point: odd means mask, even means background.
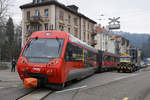
[[[3,75],[8,81],[4,81],[2,74],[0,71],[0,100],[15,100],[33,91],[23,87],[17,73],[7,72],[9,77]],[[150,100],[150,69],[95,74],[62,91],[54,91],[44,100]]]

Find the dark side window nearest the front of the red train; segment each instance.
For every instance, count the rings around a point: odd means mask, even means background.
[[[82,48],[68,43],[65,53],[65,60],[66,61],[82,61]]]

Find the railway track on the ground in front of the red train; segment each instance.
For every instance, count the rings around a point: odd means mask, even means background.
[[[44,100],[48,95],[52,94],[53,91],[49,89],[36,89],[16,100]]]

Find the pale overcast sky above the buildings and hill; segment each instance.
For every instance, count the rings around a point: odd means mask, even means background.
[[[93,19],[102,26],[108,25],[108,18],[120,17],[121,29],[130,33],[150,34],[150,0],[58,0],[79,7],[79,12]],[[9,15],[15,24],[22,20],[20,5],[32,0],[13,0],[9,6]],[[101,16],[104,15],[104,16]],[[102,20],[99,20],[102,19]]]

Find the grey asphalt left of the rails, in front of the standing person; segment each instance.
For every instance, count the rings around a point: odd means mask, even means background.
[[[0,100],[16,100],[33,89],[25,89],[17,72],[0,70]]]

